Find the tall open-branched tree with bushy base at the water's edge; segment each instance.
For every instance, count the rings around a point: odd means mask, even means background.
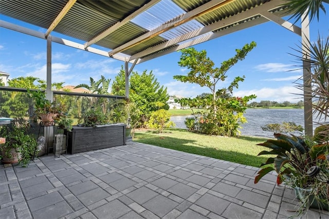
[[[243,112],[246,103],[255,98],[255,95],[233,97],[234,88],[239,88],[239,82],[244,81],[244,76],[236,76],[227,88],[217,89],[218,82],[224,82],[228,70],[238,61],[242,61],[248,52],[256,46],[255,42],[246,44],[242,49],[236,49],[236,54],[227,61],[222,62],[220,68],[214,67],[214,62],[207,57],[205,50],[196,51],[194,48],[182,49],[180,67],[187,67],[187,75],[175,75],[174,79],[180,82],[198,84],[208,87],[211,95],[199,95],[195,98],[182,98],[178,102],[190,108],[201,108],[205,111],[198,118],[199,131],[206,134],[235,136],[239,122],[245,122]]]

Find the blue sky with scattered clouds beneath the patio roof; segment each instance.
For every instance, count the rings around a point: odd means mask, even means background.
[[[329,5],[325,5],[327,14],[320,14],[320,21],[315,19],[310,24],[311,41],[316,41],[318,34],[326,37],[329,34]],[[15,19],[0,15],[0,19],[34,30],[45,32],[44,29],[33,27]],[[299,23],[297,23],[300,26]],[[57,35],[52,33],[52,35]],[[62,36],[63,37],[63,36]],[[67,38],[68,37],[63,37]],[[301,37],[283,27],[267,22],[255,27],[213,39],[194,46],[197,50],[206,50],[207,55],[217,67],[221,62],[232,57],[235,49],[242,48],[250,42],[256,42],[254,48],[244,61],[237,63],[228,72],[227,81],[217,85],[217,88],[228,84],[235,76],[245,75],[245,81],[239,89],[234,90],[235,96],[256,94],[253,101],[270,100],[277,102],[300,100],[300,93],[294,87],[294,81],[302,75],[296,69],[296,58],[288,53],[298,54],[297,49],[301,44]],[[81,42],[83,43],[83,42]],[[136,65],[134,71],[141,73],[144,70],[153,71],[158,82],[168,88],[170,95],[194,97],[207,88],[195,84],[181,83],[173,79],[173,75],[186,74],[185,68],[178,66],[180,52],[160,56]],[[52,44],[52,81],[65,82],[64,85],[89,84],[89,77],[99,79],[101,75],[112,78],[117,75],[123,62],[106,58],[101,55]],[[0,71],[10,74],[10,78],[19,76],[46,77],[46,41],[19,32],[0,28]]]

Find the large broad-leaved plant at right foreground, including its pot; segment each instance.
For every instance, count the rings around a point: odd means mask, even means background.
[[[309,207],[329,210],[329,145],[295,135],[275,133],[277,139],[269,139],[258,144],[270,149],[258,155],[274,155],[261,165],[263,167],[255,176],[258,183],[267,173],[275,170],[278,173],[277,184],[285,183],[295,189],[301,205],[299,214]],[[316,169],[317,172],[313,170]],[[313,172],[313,173],[312,173]],[[319,178],[323,177],[323,180]],[[299,215],[298,214],[298,215]]]

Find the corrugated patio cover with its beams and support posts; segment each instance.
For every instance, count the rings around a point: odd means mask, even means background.
[[[51,93],[51,43],[55,42],[124,61],[126,96],[129,96],[129,74],[136,64],[235,31],[272,21],[301,35],[302,42],[305,42],[303,36],[309,35],[307,25],[302,24],[305,27],[302,31],[302,28],[282,19],[288,15],[282,6],[286,2],[0,0],[0,14],[45,31],[35,31],[3,20],[0,20],[0,27],[47,39],[47,93]],[[306,22],[308,19],[305,19]],[[64,37],[53,36],[53,32]],[[130,69],[129,63],[133,64]],[[307,72],[304,72],[304,81],[306,76]],[[305,98],[305,132],[309,133],[313,130],[312,123],[309,124],[309,118],[312,121],[312,102]]]

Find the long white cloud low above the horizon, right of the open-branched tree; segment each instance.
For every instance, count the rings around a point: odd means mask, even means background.
[[[289,101],[295,103],[300,101],[303,91],[294,86],[284,86],[279,88],[261,88],[259,90],[239,90],[233,93],[234,96],[248,96],[251,94],[257,95],[255,102],[260,101],[277,101],[282,103],[284,101]]]

